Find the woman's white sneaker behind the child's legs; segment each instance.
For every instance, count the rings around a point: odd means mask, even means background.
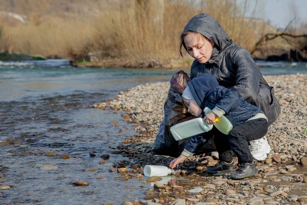
[[[271,147],[269,145],[267,137],[262,137],[250,141],[251,153],[255,159],[258,161],[263,161],[267,158],[267,155],[271,152]]]

